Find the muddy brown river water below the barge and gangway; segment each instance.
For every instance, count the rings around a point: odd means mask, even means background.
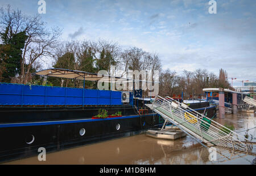
[[[225,119],[214,121],[233,125],[234,131],[240,132],[256,126],[256,113],[226,114]],[[256,128],[248,134],[256,137]],[[256,145],[252,152],[256,153]],[[141,134],[47,153],[46,161],[38,161],[36,156],[5,164],[252,164],[256,160],[256,154],[221,151],[212,159],[209,154],[212,151],[189,136],[172,141]]]

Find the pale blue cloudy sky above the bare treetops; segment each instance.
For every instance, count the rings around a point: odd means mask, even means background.
[[[233,85],[256,81],[256,1],[44,0],[47,27],[63,29],[62,40],[99,39],[157,53],[163,69],[228,72]],[[0,0],[24,14],[38,14],[38,0]],[[51,67],[51,66],[48,66]]]

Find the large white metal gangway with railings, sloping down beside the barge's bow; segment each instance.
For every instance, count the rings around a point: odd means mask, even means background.
[[[152,104],[146,104],[160,114],[166,121],[173,123],[197,141],[203,141],[205,147],[217,145],[234,151],[246,152],[248,147],[241,139],[244,136],[222,126],[171,97],[156,96]],[[200,142],[201,143],[201,142]],[[201,143],[201,144],[203,144]]]

